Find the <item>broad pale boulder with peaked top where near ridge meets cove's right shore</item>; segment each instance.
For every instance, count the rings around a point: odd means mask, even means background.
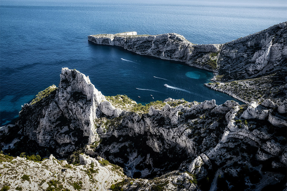
[[[261,109],[258,106],[259,104],[255,102],[250,103],[240,117],[244,119],[264,120],[268,116],[269,111],[267,109]]]

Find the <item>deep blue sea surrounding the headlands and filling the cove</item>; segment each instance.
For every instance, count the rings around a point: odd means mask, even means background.
[[[285,4],[0,1],[0,125],[11,123],[39,91],[58,85],[61,67],[88,75],[106,96],[126,94],[142,104],[168,97],[232,100],[204,87],[211,72],[95,45],[87,36],[176,32],[196,44],[225,43],[286,21]]]

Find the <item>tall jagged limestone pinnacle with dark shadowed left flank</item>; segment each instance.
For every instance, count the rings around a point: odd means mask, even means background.
[[[56,147],[57,153],[65,155],[79,146],[79,138],[83,140],[80,144],[99,139],[94,120],[101,113],[98,106],[106,98],[92,85],[88,76],[77,70],[63,68],[60,77],[55,94],[23,107],[18,126],[23,127],[24,135],[40,146]],[[113,108],[109,109],[113,115],[119,115],[119,112],[111,111]]]

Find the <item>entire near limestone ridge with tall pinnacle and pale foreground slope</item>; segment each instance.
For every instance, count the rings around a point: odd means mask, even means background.
[[[1,150],[19,156],[0,154],[1,188],[287,186],[287,100],[217,105],[168,98],[143,106],[125,95],[102,95],[76,69],[62,68],[60,77],[59,87],[48,87],[22,107],[15,125],[0,128]]]

